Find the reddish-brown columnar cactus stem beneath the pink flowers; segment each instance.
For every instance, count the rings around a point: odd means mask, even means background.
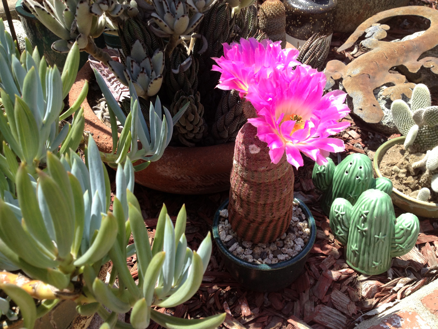
[[[266,243],[279,238],[290,223],[294,170],[285,155],[271,163],[268,145],[256,134],[250,123],[237,134],[228,219],[239,238]]]

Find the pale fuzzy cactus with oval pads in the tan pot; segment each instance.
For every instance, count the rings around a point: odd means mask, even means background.
[[[412,164],[413,168],[426,167],[431,187],[438,192],[438,106],[431,106],[429,89],[418,84],[412,91],[411,108],[402,100],[391,105],[394,123],[400,133],[406,136],[405,149],[410,152],[426,152],[423,159]],[[417,199],[426,201],[430,196],[423,188]],[[427,198],[426,198],[427,196]]]

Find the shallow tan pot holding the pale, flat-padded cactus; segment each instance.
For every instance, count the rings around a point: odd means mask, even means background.
[[[380,172],[379,166],[386,151],[392,146],[397,144],[403,144],[405,142],[405,136],[397,137],[383,143],[376,151],[373,160],[374,171],[377,177],[383,177]],[[438,204],[420,201],[400,192],[396,188],[392,188],[391,193],[392,203],[403,210],[413,213],[414,215],[421,217],[438,218]]]

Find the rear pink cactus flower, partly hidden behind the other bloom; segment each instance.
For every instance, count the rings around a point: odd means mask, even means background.
[[[280,42],[268,39],[258,42],[254,38],[240,39],[240,44],[224,44],[224,56],[213,58],[217,65],[212,70],[221,72],[217,88],[236,89],[244,97],[251,84],[257,83],[261,74],[270,75],[274,69],[285,70],[301,64],[297,49],[281,49]]]

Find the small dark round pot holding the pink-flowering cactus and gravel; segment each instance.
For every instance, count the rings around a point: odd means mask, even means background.
[[[225,266],[234,278],[248,289],[255,291],[276,291],[293,283],[302,273],[309,252],[316,239],[316,225],[309,208],[299,199],[294,199],[307,217],[310,227],[310,238],[303,250],[293,258],[278,262],[277,264],[254,264],[234,256],[219,237],[218,225],[219,212],[228,206],[225,201],[214,214],[213,237],[221,251]]]

